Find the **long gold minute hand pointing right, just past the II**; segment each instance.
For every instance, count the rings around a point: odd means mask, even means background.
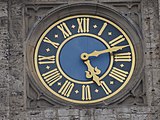
[[[125,47],[128,47],[129,45],[125,45],[125,46],[116,46],[116,47],[112,47],[112,48],[109,48],[109,49],[106,49],[106,50],[101,50],[101,51],[93,51],[92,53],[88,54],[88,53],[82,53],[81,54],[81,59],[82,60],[88,60],[89,57],[91,56],[95,56],[95,57],[98,57],[99,55],[101,54],[104,54],[104,53],[108,53],[108,52],[115,52],[115,51],[118,51],[118,50],[121,50]]]

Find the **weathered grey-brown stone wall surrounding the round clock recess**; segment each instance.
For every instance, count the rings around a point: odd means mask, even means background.
[[[73,2],[110,6],[132,19],[141,30],[145,58],[142,81],[134,94],[119,104],[97,108],[53,105],[45,99],[37,99],[39,93],[29,84],[25,69],[29,31],[50,9]],[[159,120],[159,46],[160,0],[0,0],[0,119]]]

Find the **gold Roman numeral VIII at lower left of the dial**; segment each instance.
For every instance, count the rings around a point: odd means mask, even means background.
[[[42,76],[49,86],[52,86],[55,82],[62,78],[62,75],[59,73],[57,68],[42,74]]]

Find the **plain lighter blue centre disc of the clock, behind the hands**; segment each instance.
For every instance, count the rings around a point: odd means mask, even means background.
[[[85,75],[86,65],[81,60],[80,56],[83,52],[91,53],[94,50],[104,49],[107,49],[107,47],[101,41],[93,37],[80,36],[73,38],[67,42],[60,51],[59,60],[61,68],[65,74],[72,79],[88,81],[89,79],[87,79]],[[103,54],[96,59],[95,57],[92,57],[91,63],[93,66],[97,66],[101,69],[100,75],[103,75],[109,67],[110,54]]]

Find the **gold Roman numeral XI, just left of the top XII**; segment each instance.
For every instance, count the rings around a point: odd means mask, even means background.
[[[58,25],[57,28],[63,33],[64,38],[67,38],[70,35],[72,35],[71,31],[69,30],[66,23],[64,23],[64,22],[62,24]]]

